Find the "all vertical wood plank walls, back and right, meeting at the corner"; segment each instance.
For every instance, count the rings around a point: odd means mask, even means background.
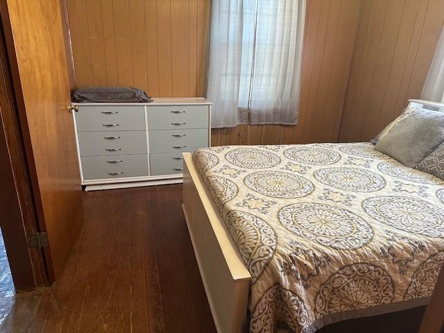
[[[419,97],[443,1],[307,0],[298,125],[214,129],[212,145],[369,139]],[[67,0],[67,8],[78,87],[205,96],[210,0]]]

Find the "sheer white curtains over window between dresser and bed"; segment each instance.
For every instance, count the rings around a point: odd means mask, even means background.
[[[305,0],[213,0],[212,127],[298,119]]]

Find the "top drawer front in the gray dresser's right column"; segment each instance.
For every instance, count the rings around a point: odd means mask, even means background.
[[[208,128],[207,105],[148,106],[148,129]]]

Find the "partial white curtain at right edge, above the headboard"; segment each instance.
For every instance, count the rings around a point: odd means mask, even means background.
[[[444,103],[444,28],[422,88],[421,98]]]

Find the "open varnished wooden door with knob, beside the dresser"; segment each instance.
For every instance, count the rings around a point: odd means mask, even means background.
[[[37,217],[49,237],[45,259],[54,280],[82,221],[60,1],[1,0],[1,7]]]

